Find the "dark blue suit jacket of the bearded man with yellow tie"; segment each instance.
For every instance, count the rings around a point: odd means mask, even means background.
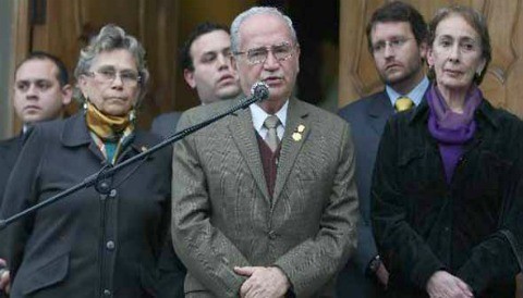
[[[379,297],[379,285],[365,275],[370,260],[378,253],[370,226],[370,181],[379,139],[394,109],[384,90],[362,98],[340,110],[351,124],[356,156],[356,184],[362,213],[357,228],[357,249],[338,278],[339,297]]]

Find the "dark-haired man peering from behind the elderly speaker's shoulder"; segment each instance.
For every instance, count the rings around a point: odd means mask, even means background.
[[[180,49],[180,64],[187,85],[196,89],[202,104],[239,96],[238,76],[231,67],[231,39],[226,26],[202,23]],[[181,112],[153,121],[151,132],[169,137],[175,133]]]

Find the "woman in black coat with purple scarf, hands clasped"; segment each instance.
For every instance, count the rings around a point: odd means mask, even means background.
[[[523,126],[478,89],[491,59],[485,18],[440,9],[433,85],[387,124],[372,218],[389,297],[514,297],[523,245]]]

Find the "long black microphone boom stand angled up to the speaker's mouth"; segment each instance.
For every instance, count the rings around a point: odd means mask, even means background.
[[[262,87],[257,88],[260,85],[262,85]],[[267,98],[268,97],[268,87],[264,83],[256,83],[252,88],[252,94],[253,94],[253,96],[251,96],[250,98],[241,100],[239,103],[231,107],[226,112],[223,112],[221,114],[218,114],[218,115],[216,115],[216,116],[214,116],[209,120],[206,120],[202,123],[198,123],[198,124],[195,124],[191,127],[187,127],[187,128],[185,128],[181,132],[178,132],[174,135],[172,135],[172,136],[166,138],[165,140],[162,140],[161,142],[153,146],[148,150],[143,151],[143,152],[138,153],[137,156],[134,156],[134,157],[123,161],[122,163],[117,164],[115,166],[108,167],[107,170],[106,170],[106,167],[104,167],[100,171],[98,171],[97,173],[86,177],[83,182],[63,190],[62,193],[57,194],[57,195],[52,196],[51,198],[49,198],[49,199],[47,199],[42,202],[39,202],[39,203],[37,203],[37,204],[35,204],[31,208],[27,208],[26,210],[23,210],[22,212],[20,212],[17,214],[14,214],[11,218],[8,218],[5,220],[0,220],[0,231],[4,229],[5,227],[8,227],[13,222],[19,221],[20,219],[22,219],[24,216],[27,216],[28,214],[32,214],[32,213],[36,212],[37,210],[39,210],[41,208],[45,208],[49,204],[52,204],[52,203],[59,201],[60,199],[65,198],[69,195],[78,191],[80,189],[87,188],[87,187],[90,187],[90,186],[97,184],[98,182],[100,182],[100,176],[104,179],[101,181],[101,184],[95,186],[95,188],[99,193],[102,193],[102,194],[108,193],[109,191],[109,185],[107,184],[106,178],[112,177],[117,172],[119,172],[124,166],[127,166],[127,165],[130,165],[130,164],[132,164],[132,163],[134,163],[138,160],[146,159],[147,157],[149,157],[154,152],[162,149],[163,147],[180,140],[180,139],[182,139],[182,138],[184,138],[184,137],[186,137],[186,136],[188,136],[188,135],[191,135],[191,134],[210,125],[211,123],[214,123],[214,122],[216,122],[216,121],[218,121],[218,120],[220,120],[220,119],[222,119],[227,115],[230,115],[230,114],[234,113],[235,111],[238,111],[240,109],[246,109],[252,103]]]

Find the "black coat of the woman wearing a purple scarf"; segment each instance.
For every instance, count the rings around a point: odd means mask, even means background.
[[[519,268],[499,231],[523,244],[522,123],[483,100],[449,185],[427,120],[426,102],[394,115],[376,159],[372,219],[390,296],[428,297],[428,278],[447,270],[475,297],[514,297]]]

